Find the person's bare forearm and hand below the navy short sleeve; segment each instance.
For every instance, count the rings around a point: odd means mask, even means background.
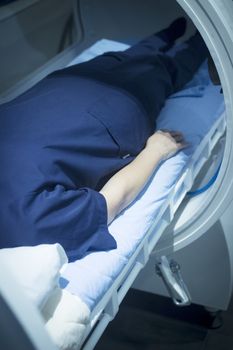
[[[149,137],[145,148],[101,189],[108,210],[108,223],[126,208],[145,186],[161,160],[186,147],[179,132],[158,131]]]

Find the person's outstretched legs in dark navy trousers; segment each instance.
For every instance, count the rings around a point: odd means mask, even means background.
[[[192,78],[208,53],[199,34],[176,52],[173,49],[159,53],[161,36],[167,34],[168,29],[124,52],[106,53],[58,74],[85,76],[125,90],[138,100],[154,123],[166,98]]]

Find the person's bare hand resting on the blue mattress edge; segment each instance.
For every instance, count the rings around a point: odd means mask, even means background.
[[[145,149],[160,155],[161,160],[172,157],[187,147],[184,137],[179,131],[158,130],[147,140]]]

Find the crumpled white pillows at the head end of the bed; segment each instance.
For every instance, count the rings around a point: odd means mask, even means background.
[[[8,268],[40,311],[48,333],[61,350],[77,349],[90,318],[89,308],[78,296],[59,288],[67,261],[60,244],[0,249],[0,266]]]

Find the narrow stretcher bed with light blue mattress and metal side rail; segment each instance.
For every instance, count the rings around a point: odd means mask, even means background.
[[[101,40],[70,64],[107,50],[126,47],[125,44]],[[135,201],[111,223],[109,229],[117,241],[116,250],[90,253],[69,263],[63,270],[61,288],[81,299],[90,314],[88,317],[85,314],[83,322],[82,319],[78,321],[82,327],[77,328],[77,332],[71,331],[72,340],[69,340],[64,328],[59,329],[59,341],[54,340],[60,348],[94,348],[203,164],[223,136],[223,95],[220,88],[210,82],[206,63],[182,91],[167,100],[157,127],[182,131],[189,147],[161,163]],[[219,164],[217,159],[216,169]],[[52,312],[46,315],[47,320],[55,317]],[[64,332],[64,338],[61,332]]]

